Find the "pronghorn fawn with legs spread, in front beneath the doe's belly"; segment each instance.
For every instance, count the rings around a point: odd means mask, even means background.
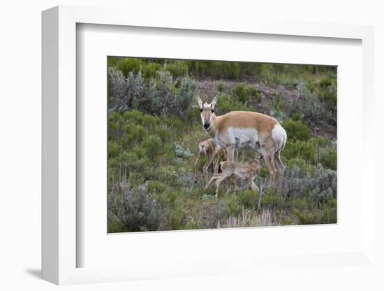
[[[242,180],[248,180],[249,185],[251,185],[251,189],[253,191],[258,191],[258,186],[255,184],[254,180],[256,176],[260,174],[261,166],[259,159],[256,158],[255,161],[251,163],[226,161],[221,162],[220,165],[221,173],[215,173],[207,184],[207,187],[209,187],[209,185],[211,185],[215,181],[216,199],[219,195],[220,184],[223,182],[223,180],[226,180],[226,178],[230,178],[231,176],[241,178]],[[230,188],[228,186],[227,193],[229,192],[229,190]]]

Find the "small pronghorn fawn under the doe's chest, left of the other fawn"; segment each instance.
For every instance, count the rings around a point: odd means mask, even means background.
[[[205,179],[208,181],[208,168],[214,163],[214,173],[219,173],[219,158],[222,161],[226,161],[227,153],[226,150],[221,148],[213,139],[207,139],[199,143],[199,155],[195,162],[195,183],[198,181],[198,163],[200,159],[205,156],[207,162],[202,166],[202,172],[205,173]]]

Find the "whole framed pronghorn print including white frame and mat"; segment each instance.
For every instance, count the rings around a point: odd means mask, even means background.
[[[43,12],[43,278],[375,268],[372,28],[125,15]]]

